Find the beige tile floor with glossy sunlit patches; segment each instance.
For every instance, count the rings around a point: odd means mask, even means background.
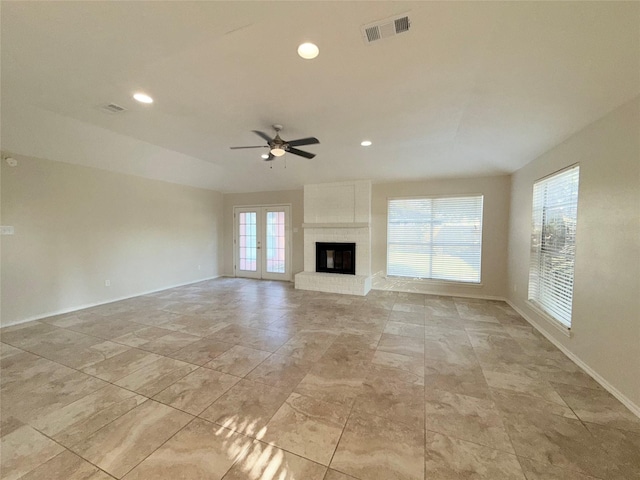
[[[640,479],[502,302],[217,279],[0,331],[5,480]]]

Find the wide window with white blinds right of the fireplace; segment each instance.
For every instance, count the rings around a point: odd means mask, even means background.
[[[387,275],[480,283],[482,198],[389,200]]]

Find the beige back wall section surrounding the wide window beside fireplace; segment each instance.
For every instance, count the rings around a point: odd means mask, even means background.
[[[504,297],[506,295],[507,231],[510,177],[458,178],[374,184],[371,202],[371,262],[374,289],[439,295]],[[385,279],[387,262],[387,201],[394,197],[484,195],[481,285],[430,280]]]

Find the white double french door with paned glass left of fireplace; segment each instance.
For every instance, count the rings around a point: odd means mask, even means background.
[[[291,280],[291,207],[234,207],[237,277]]]

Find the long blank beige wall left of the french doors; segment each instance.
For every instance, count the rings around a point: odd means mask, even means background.
[[[15,158],[2,162],[15,227],[1,237],[2,325],[220,274],[222,194]]]

